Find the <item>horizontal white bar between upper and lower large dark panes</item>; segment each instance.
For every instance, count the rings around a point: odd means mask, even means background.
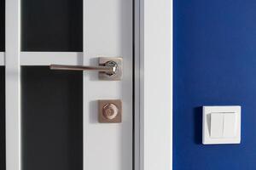
[[[0,55],[1,57],[1,55]],[[20,65],[83,65],[81,52],[21,52]]]

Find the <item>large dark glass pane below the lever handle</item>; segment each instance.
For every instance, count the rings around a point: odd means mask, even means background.
[[[22,168],[83,169],[83,73],[22,66]]]

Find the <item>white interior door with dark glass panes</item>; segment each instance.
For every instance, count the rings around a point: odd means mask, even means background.
[[[131,170],[133,1],[0,2],[5,3],[0,65],[6,169]],[[122,79],[49,69],[52,64],[98,66],[99,57],[121,58]],[[108,99],[122,103],[121,121],[99,122],[98,101]]]

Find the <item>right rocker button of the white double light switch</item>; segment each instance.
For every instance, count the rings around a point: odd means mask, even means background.
[[[236,135],[236,114],[224,113],[224,138],[234,138]]]

